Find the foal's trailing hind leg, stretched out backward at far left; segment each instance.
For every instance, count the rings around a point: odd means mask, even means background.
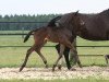
[[[29,57],[29,55],[31,55],[34,50],[35,50],[35,45],[34,45],[33,47],[31,47],[31,48],[27,50],[25,60],[24,60],[23,65],[21,66],[20,71],[22,71],[23,68],[26,66],[26,62],[27,62],[27,60],[28,60],[28,57]]]

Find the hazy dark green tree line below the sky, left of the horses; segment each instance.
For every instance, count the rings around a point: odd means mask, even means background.
[[[4,15],[4,16],[0,15],[0,31],[33,30],[46,25],[51,19],[58,15],[59,14],[37,14],[37,15],[15,14],[15,15]],[[34,22],[34,23],[26,23],[26,22]]]

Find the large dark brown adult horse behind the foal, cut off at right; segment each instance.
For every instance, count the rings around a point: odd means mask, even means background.
[[[53,23],[56,23],[57,21],[59,22],[59,25],[65,26],[69,28],[68,25],[68,20],[71,17],[72,13],[66,13],[61,15],[60,19],[57,19],[56,21],[53,20]],[[77,14],[80,16],[80,19],[83,21],[83,23],[85,23],[85,28],[81,31],[80,36],[84,39],[87,40],[109,40],[109,9],[105,10],[102,12],[99,13],[78,13]],[[50,25],[50,24],[49,24]],[[72,26],[73,30],[76,30],[76,26]],[[60,46],[58,45],[57,50],[60,51]],[[69,51],[70,49],[64,49],[64,56],[65,58],[69,58]],[[66,59],[69,60],[69,59]],[[76,58],[75,58],[76,60]],[[69,61],[66,61],[69,62]],[[70,65],[70,63],[69,63]],[[68,68],[70,67],[68,65]]]

